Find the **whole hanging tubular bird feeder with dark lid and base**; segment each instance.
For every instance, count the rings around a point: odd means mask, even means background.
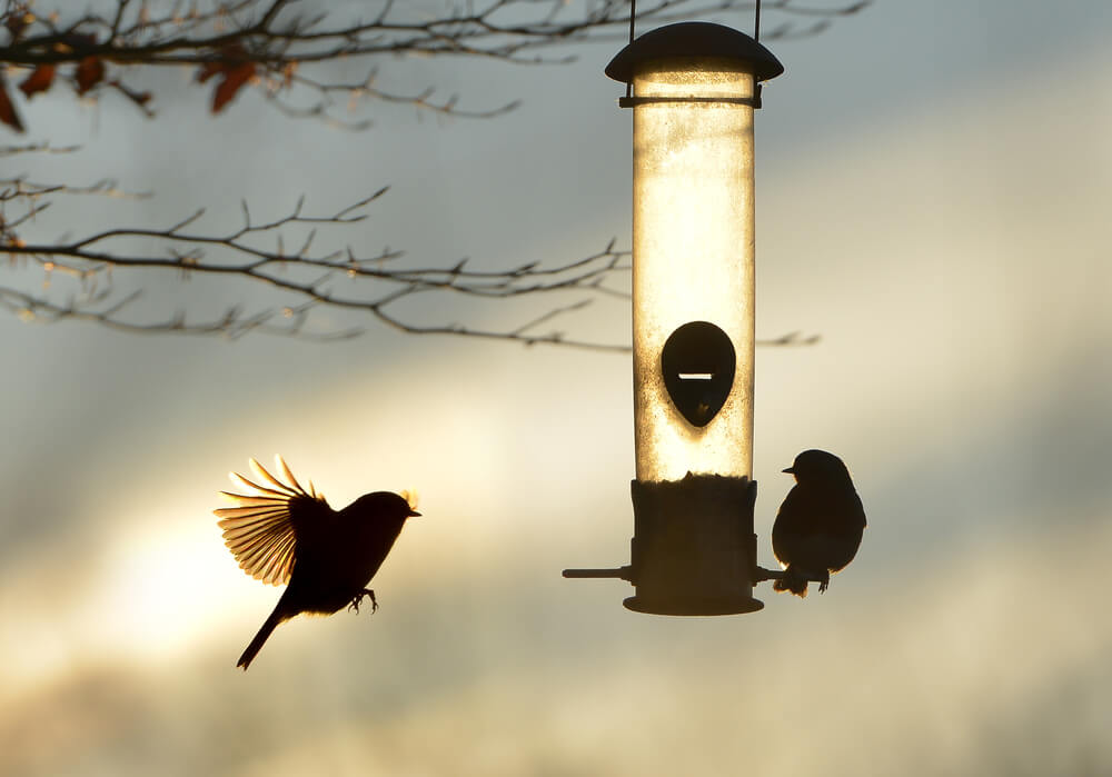
[[[683,22],[606,67],[633,109],[636,479],[629,609],[729,615],[753,598],[754,186],[759,82],[784,68],[749,36]]]

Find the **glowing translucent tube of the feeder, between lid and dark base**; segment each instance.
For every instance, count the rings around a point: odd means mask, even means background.
[[[754,345],[753,73],[715,62],[655,62],[634,108],[633,342],[637,480],[688,471],[752,478]],[[669,399],[661,368],[678,327],[707,321],[735,353],[725,404],[704,427]]]

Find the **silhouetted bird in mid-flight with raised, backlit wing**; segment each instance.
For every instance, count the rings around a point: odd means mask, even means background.
[[[359,611],[375,591],[367,588],[406,519],[420,514],[406,496],[390,491],[366,494],[337,512],[309,482],[306,491],[280,456],[275,457],[287,482],[281,482],[255,459],[251,469],[265,485],[230,472],[234,482],[255,496],[221,494],[238,507],[214,512],[224,539],[239,566],[264,582],[288,584],[274,612],[244,650],[236,666],[250,666],[264,642],[284,620],[300,612],[331,615],[347,606]]]

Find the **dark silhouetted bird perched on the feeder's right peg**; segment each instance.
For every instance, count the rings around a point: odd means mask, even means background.
[[[865,510],[842,459],[825,450],[805,450],[783,470],[795,486],[780,506],[772,527],[772,550],[784,567],[773,582],[778,591],[807,595],[807,581],[822,594],[836,572],[853,560],[865,530]]]

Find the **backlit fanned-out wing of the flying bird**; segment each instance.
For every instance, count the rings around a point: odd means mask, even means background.
[[[294,569],[294,551],[298,534],[307,517],[314,512],[331,512],[322,494],[318,494],[309,482],[309,490],[301,488],[289,467],[280,456],[275,457],[276,471],[285,476],[287,482],[278,480],[255,459],[250,459],[251,470],[259,485],[242,475],[229,472],[232,482],[255,491],[254,495],[220,491],[237,507],[221,507],[212,510],[220,519],[225,545],[248,575],[271,586],[289,580]]]

